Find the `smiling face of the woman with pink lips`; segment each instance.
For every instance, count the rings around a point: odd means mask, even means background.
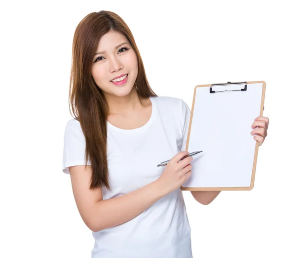
[[[100,39],[92,62],[92,77],[104,94],[122,97],[131,92],[138,75],[138,61],[135,51],[124,35],[114,31],[106,33]],[[122,81],[126,80],[123,85],[111,82],[114,77],[122,74],[128,74]]]

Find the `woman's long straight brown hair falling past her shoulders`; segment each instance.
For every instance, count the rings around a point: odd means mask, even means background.
[[[91,75],[91,63],[101,37],[109,31],[122,33],[129,40],[138,59],[135,84],[139,97],[157,97],[148,84],[143,61],[132,32],[116,13],[92,12],[85,16],[74,32],[70,77],[69,107],[79,121],[85,137],[84,160],[91,162],[89,189],[106,187],[110,190],[107,162],[108,103]],[[86,163],[85,163],[86,164]]]

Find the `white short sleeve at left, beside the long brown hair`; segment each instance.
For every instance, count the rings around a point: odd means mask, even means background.
[[[85,162],[85,137],[79,121],[71,119],[68,121],[64,133],[63,150],[63,172],[69,173],[69,166],[90,165]]]

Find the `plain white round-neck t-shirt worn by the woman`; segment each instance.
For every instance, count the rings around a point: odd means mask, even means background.
[[[157,164],[185,150],[188,105],[176,97],[149,98],[152,114],[144,126],[120,129],[107,124],[111,191],[103,187],[103,199],[128,194],[155,181],[165,169]],[[85,138],[80,123],[73,118],[65,129],[63,172],[69,174],[69,166],[85,164],[84,154]],[[92,232],[92,258],[192,258],[190,231],[179,188],[134,219]]]

